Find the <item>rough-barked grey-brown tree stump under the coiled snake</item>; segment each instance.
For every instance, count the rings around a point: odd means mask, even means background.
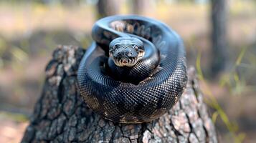
[[[76,73],[84,53],[77,46],[54,51],[22,142],[217,142],[193,68],[181,99],[163,117],[143,124],[117,124],[93,113],[80,97]]]

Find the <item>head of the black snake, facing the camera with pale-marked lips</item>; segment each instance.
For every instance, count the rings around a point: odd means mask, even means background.
[[[134,66],[144,56],[143,42],[133,37],[113,39],[109,45],[109,55],[117,66]]]

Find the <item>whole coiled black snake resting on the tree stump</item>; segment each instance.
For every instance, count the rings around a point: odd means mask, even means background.
[[[108,16],[95,23],[92,36],[77,82],[93,112],[113,122],[150,122],[181,97],[186,51],[166,24],[143,16]]]

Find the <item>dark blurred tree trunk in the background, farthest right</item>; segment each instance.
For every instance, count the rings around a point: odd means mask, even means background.
[[[227,0],[212,0],[212,76],[223,71],[229,59],[227,52]]]

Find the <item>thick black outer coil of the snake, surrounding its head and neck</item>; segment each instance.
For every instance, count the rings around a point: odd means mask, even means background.
[[[100,19],[92,33],[95,42],[87,49],[77,72],[78,87],[90,109],[113,122],[141,123],[157,119],[174,106],[187,80],[186,51],[178,34],[160,21],[142,16]],[[108,45],[123,36],[142,37],[161,56],[153,74],[138,84],[120,82],[106,70]],[[141,74],[146,72],[143,68],[134,69]]]

